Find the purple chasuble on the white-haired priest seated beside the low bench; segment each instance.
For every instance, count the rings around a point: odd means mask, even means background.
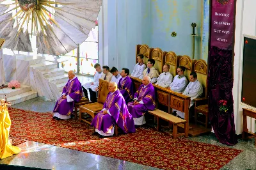
[[[140,118],[145,112],[148,110],[153,111],[156,107],[155,89],[151,83],[146,88],[144,88],[144,84],[141,84],[138,91],[134,94],[134,98],[138,98],[138,102],[142,100],[143,104],[128,103],[128,111],[132,114],[133,118]]]

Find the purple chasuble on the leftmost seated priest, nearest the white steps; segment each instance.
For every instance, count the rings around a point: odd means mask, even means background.
[[[74,101],[67,102],[67,98],[59,98],[55,104],[53,112],[58,112],[62,115],[70,115],[73,112],[75,102],[83,97],[82,86],[77,77],[70,81],[68,80],[67,84],[64,86],[62,94],[69,95]]]

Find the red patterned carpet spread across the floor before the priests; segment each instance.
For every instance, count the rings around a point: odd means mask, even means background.
[[[86,151],[161,169],[220,169],[241,150],[197,143],[149,128],[134,134],[99,139],[93,128],[77,120],[52,120],[50,113],[9,108],[10,135],[20,139]]]

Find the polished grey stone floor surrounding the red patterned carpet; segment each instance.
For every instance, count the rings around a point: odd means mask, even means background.
[[[92,80],[92,77],[79,77],[79,79],[83,84]],[[38,97],[20,104],[12,105],[12,107],[36,112],[51,112],[54,105],[55,102]],[[189,140],[225,146],[224,144],[219,143],[213,134],[200,137],[189,137]],[[0,160],[0,164],[61,170],[157,169],[124,160],[103,157],[100,155],[94,155],[92,153],[70,150],[67,148],[36,143],[33,141],[27,141],[26,143],[19,144],[19,147],[22,148],[22,151],[19,154]],[[248,141],[239,139],[239,143],[235,146],[226,147],[243,150],[243,152],[221,169],[256,169],[256,148],[254,146],[254,139],[250,139]]]

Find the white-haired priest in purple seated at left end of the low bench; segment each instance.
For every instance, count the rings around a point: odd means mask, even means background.
[[[144,114],[156,107],[155,89],[150,83],[150,77],[145,76],[138,91],[134,94],[134,101],[128,103],[128,111],[132,114],[134,124],[137,126],[146,123]]]

